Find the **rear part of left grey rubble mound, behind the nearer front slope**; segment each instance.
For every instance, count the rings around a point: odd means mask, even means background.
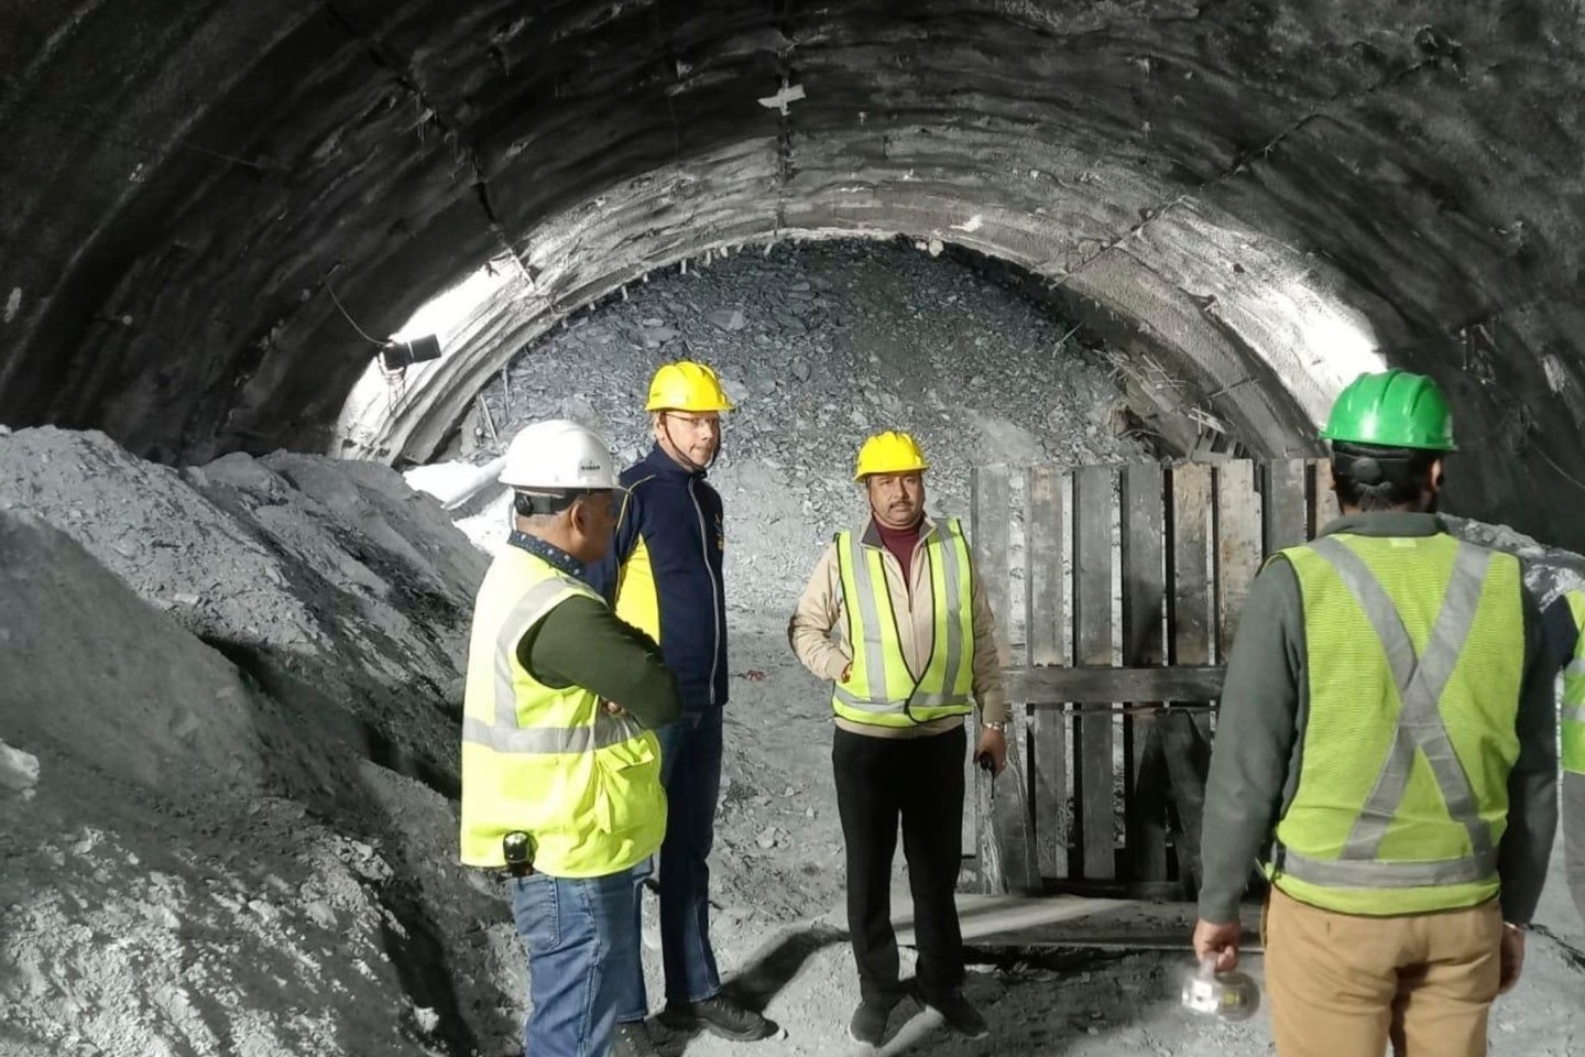
[[[391,471],[288,453],[173,471],[24,429],[0,437],[0,507],[63,526],[268,691],[322,700],[312,723],[455,791],[447,708],[483,559]]]

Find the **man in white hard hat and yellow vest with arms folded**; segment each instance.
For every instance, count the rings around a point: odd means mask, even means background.
[[[653,727],[682,712],[659,651],[585,582],[610,547],[610,448],[574,422],[514,437],[514,531],[479,588],[463,704],[461,859],[504,870],[529,956],[534,1057],[653,1052],[617,1025],[639,884],[666,832]]]

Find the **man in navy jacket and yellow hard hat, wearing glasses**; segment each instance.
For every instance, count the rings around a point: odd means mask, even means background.
[[[777,1025],[721,994],[710,949],[710,867],[721,794],[721,708],[726,705],[726,597],[721,577],[721,496],[705,471],[721,448],[721,412],[732,403],[715,371],[682,360],[655,372],[645,410],[655,447],[621,474],[628,490],[617,544],[591,569],[617,616],[661,647],[682,691],[682,719],[658,731],[669,802],[659,856],[661,954],[672,1030],[701,1027],[759,1040]],[[621,1022],[647,1013],[644,976],[626,987]]]

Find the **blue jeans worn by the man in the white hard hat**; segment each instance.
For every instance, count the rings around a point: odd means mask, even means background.
[[[602,878],[512,881],[512,916],[528,949],[523,1052],[534,1057],[605,1057],[621,981],[639,964],[639,884],[645,859]]]

